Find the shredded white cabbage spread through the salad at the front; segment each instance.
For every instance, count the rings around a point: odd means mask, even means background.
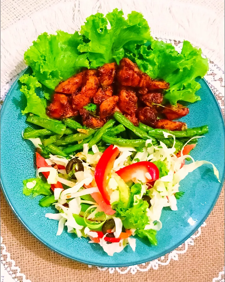
[[[165,133],[165,138],[168,138],[168,134]],[[173,136],[173,135],[172,135]],[[160,221],[161,212],[163,207],[170,207],[171,210],[177,210],[177,200],[175,198],[175,193],[179,191],[179,182],[186,177],[189,172],[192,172],[202,164],[211,164],[213,166],[213,171],[216,177],[219,180],[218,170],[211,162],[207,161],[195,161],[190,155],[183,155],[181,151],[181,157],[177,157],[175,155],[175,137],[174,144],[172,148],[167,148],[166,145],[160,142],[159,146],[153,146],[151,140],[146,140],[146,145],[143,148],[143,152],[137,152],[133,160],[130,159],[130,156],[135,148],[131,147],[118,147],[120,151],[119,157],[115,160],[112,175],[108,181],[107,189],[110,196],[110,203],[114,203],[119,201],[120,193],[119,188],[121,185],[121,180],[118,175],[115,174],[115,171],[127,166],[131,163],[134,163],[135,160],[139,161],[150,161],[155,162],[160,160],[164,162],[168,169],[168,175],[161,177],[156,180],[154,186],[150,189],[149,196],[151,197],[151,206],[147,208],[147,216],[149,218],[149,224],[145,226],[145,230],[154,229],[160,230],[162,227],[162,223]],[[196,138],[196,137],[195,137]],[[39,138],[37,138],[39,139]],[[31,140],[35,145],[39,142],[39,140]],[[188,143],[188,142],[187,142]],[[40,144],[40,143],[38,143]],[[78,157],[80,160],[84,160],[83,166],[84,171],[79,171],[75,173],[77,180],[67,180],[66,179],[66,171],[65,170],[57,170],[53,167],[50,168],[39,168],[37,173],[43,171],[49,171],[49,177],[47,179],[48,183],[56,184],[57,181],[69,186],[68,189],[63,190],[61,188],[56,188],[54,191],[55,200],[57,202],[54,204],[55,208],[59,210],[59,213],[46,213],[46,217],[49,219],[54,219],[59,221],[58,223],[58,231],[56,235],[60,235],[63,232],[64,226],[67,227],[67,231],[69,233],[75,232],[78,237],[86,237],[89,236],[92,240],[97,237],[97,232],[90,231],[88,227],[77,224],[75,221],[73,214],[79,215],[81,212],[81,203],[93,204],[93,210],[87,219],[94,219],[95,214],[101,211],[101,208],[95,202],[84,201],[80,197],[87,194],[92,194],[98,192],[98,188],[94,179],[94,171],[95,167],[102,155],[99,152],[99,149],[96,145],[92,146],[92,151],[94,154],[88,154],[88,144],[84,144],[83,152],[77,153],[75,156],[71,156],[71,158]],[[181,168],[181,163],[186,158],[191,158],[190,164],[185,164]],[[50,164],[60,164],[66,166],[68,164],[68,159],[50,155],[49,159],[46,159],[46,162]],[[119,177],[119,181],[118,181]],[[147,177],[147,176],[146,176]],[[141,193],[139,195],[134,196],[134,200],[141,199],[143,194],[146,193],[148,186],[146,183],[141,183]],[[65,206],[68,204],[68,207]],[[105,219],[113,218],[115,221],[115,238],[119,237],[122,231],[122,221],[118,217],[113,217],[106,215]],[[135,233],[135,229],[132,230],[132,234]],[[105,237],[105,235],[104,235]],[[100,239],[99,244],[103,247],[103,250],[108,255],[113,255],[115,252],[121,252],[123,248],[130,244],[133,251],[135,251],[135,239],[128,238],[122,239],[119,243],[111,243],[107,244],[104,241],[104,237]],[[89,241],[89,243],[93,243],[94,241]]]

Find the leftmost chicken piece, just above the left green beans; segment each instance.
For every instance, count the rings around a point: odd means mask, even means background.
[[[52,103],[47,107],[47,115],[51,118],[64,118],[69,116],[76,116],[77,111],[73,111],[70,104],[70,98],[61,93],[53,95]]]

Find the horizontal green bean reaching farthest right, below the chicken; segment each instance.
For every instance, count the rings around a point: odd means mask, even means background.
[[[170,133],[172,135],[174,135],[175,137],[193,137],[193,136],[201,136],[204,135],[206,133],[208,133],[208,126],[207,125],[203,125],[203,126],[199,126],[199,127],[193,127],[193,128],[188,128],[186,130],[182,130],[182,131],[171,131],[171,130],[167,130],[167,129],[152,129],[150,131],[148,131],[148,134],[155,137],[155,138],[164,138],[163,132],[166,133]],[[168,138],[173,138],[171,135],[168,136]]]

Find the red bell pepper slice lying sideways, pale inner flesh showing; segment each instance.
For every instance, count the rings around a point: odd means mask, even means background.
[[[140,180],[144,182],[152,182],[159,179],[159,169],[152,162],[137,162],[130,164],[124,168],[119,169],[116,173],[125,181]],[[146,177],[146,173],[149,173],[152,179]]]

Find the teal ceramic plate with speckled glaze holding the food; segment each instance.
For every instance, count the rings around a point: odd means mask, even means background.
[[[30,73],[30,69],[23,73]],[[158,245],[150,246],[142,239],[136,240],[136,251],[127,246],[121,253],[108,256],[99,244],[88,244],[88,239],[63,231],[56,236],[57,221],[45,218],[52,208],[41,208],[41,198],[30,199],[22,193],[24,179],[35,176],[35,149],[21,132],[27,127],[21,115],[26,101],[16,81],[6,96],[1,110],[1,183],[5,197],[18,219],[37,239],[53,251],[83,263],[98,266],[129,266],[156,259],[177,248],[204,222],[212,210],[224,182],[224,121],[217,100],[207,82],[199,80],[201,101],[189,104],[190,114],[182,120],[188,127],[208,124],[209,133],[199,140],[191,152],[195,160],[207,160],[219,170],[219,183],[211,166],[204,165],[180,182],[184,196],[177,201],[177,211],[164,208],[162,229],[157,233]],[[189,219],[192,219],[191,221]],[[191,224],[189,223],[191,222]]]

